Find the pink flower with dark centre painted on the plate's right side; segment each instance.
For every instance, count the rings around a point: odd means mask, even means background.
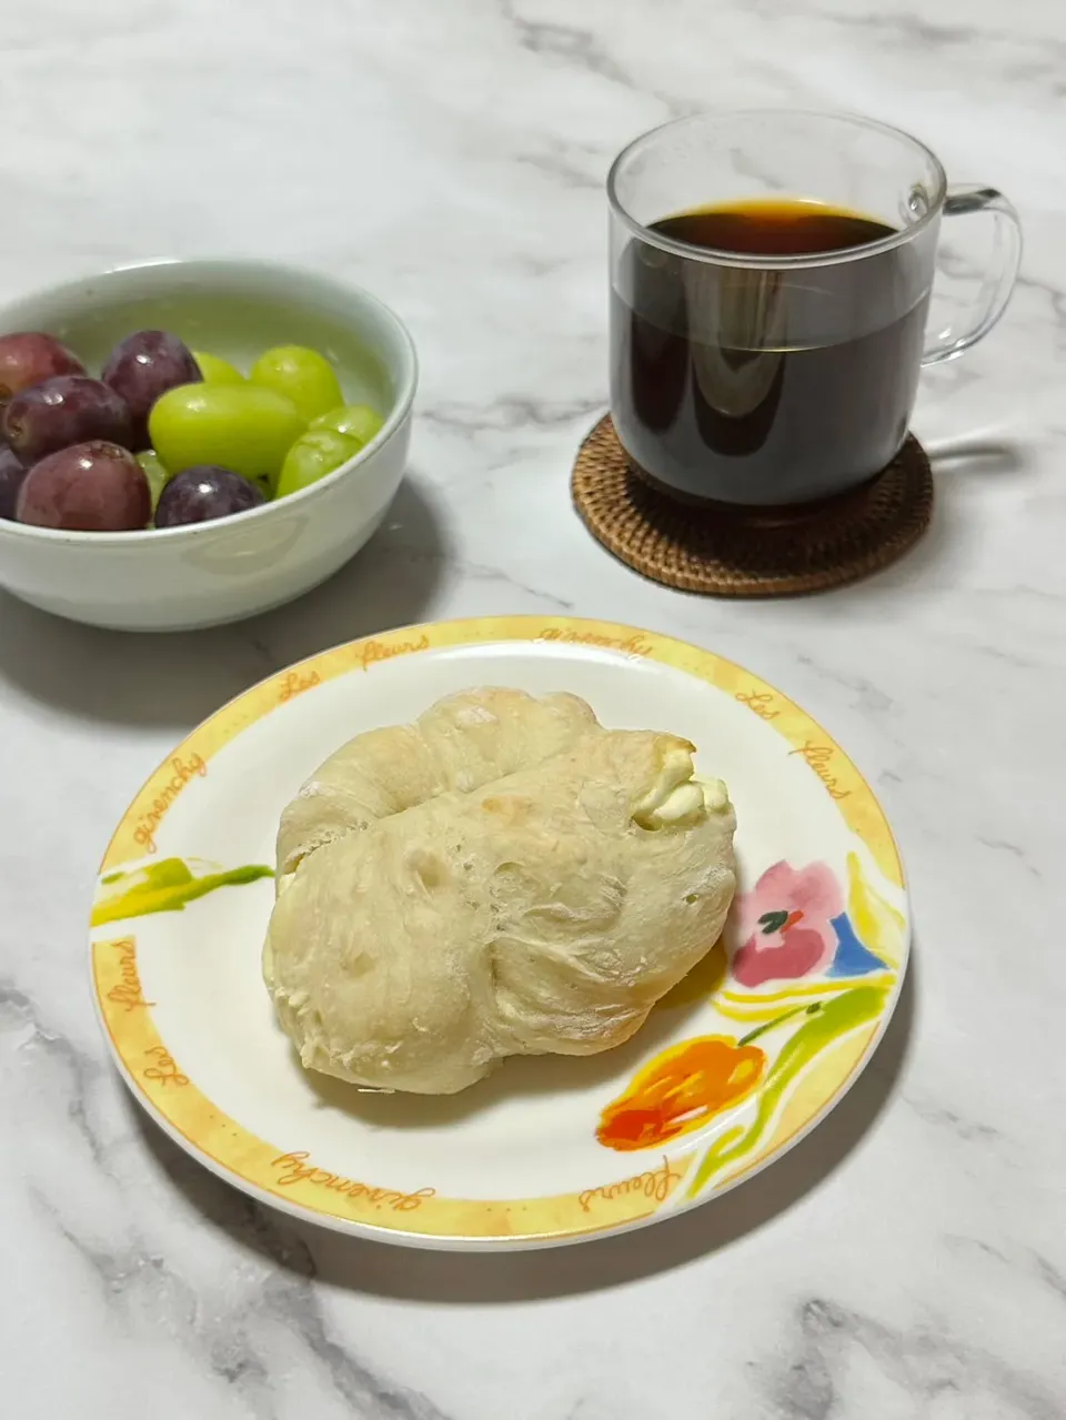
[[[732,976],[741,985],[793,981],[829,966],[836,951],[833,917],[843,893],[825,863],[775,863],[740,900]]]

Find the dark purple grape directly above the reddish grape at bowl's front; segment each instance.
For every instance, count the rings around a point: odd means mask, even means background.
[[[125,400],[88,375],[57,375],[21,390],[6,409],[3,427],[27,464],[92,439],[128,446],[131,436]]]

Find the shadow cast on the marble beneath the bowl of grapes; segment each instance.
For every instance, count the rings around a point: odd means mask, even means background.
[[[441,514],[409,477],[351,562],[298,601],[244,622],[192,632],[101,630],[0,591],[0,680],[79,720],[183,734],[294,660],[423,621],[449,557]]]

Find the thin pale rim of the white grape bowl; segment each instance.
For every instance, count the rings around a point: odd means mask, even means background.
[[[405,354],[406,365],[402,386],[396,390],[396,398],[393,399],[389,416],[369,443],[365,443],[358,453],[352,454],[351,459],[338,464],[336,469],[332,469],[307,488],[300,488],[297,493],[290,493],[277,501],[271,500],[268,503],[260,503],[258,507],[246,508],[241,513],[230,513],[221,518],[207,518],[203,523],[186,523],[172,528],[131,528],[126,532],[87,532],[75,528],[41,528],[33,523],[17,523],[14,518],[0,518],[0,540],[3,537],[26,537],[40,542],[51,542],[53,545],[67,542],[77,544],[78,547],[142,547],[146,542],[159,542],[162,538],[175,541],[180,538],[210,537],[211,534],[217,535],[217,532],[223,528],[250,527],[253,520],[258,518],[261,521],[270,517],[275,510],[309,506],[309,503],[319,497],[328,487],[332,487],[349,473],[353,473],[358,464],[366,460],[372,453],[378,453],[383,449],[385,444],[389,443],[392,437],[405,426],[407,417],[410,416],[414,395],[419,388],[419,354],[410,331],[396,311],[393,311],[390,305],[388,305],[379,295],[375,295],[373,291],[369,291],[365,285],[359,285],[355,281],[342,281],[338,277],[315,270],[314,267],[294,266],[287,261],[271,261],[263,257],[224,256],[189,258],[155,257],[148,261],[123,261],[118,266],[108,267],[104,271],[94,271],[87,275],[72,277],[67,281],[55,283],[54,285],[38,287],[34,291],[27,291],[24,295],[17,295],[4,301],[3,305],[0,305],[0,325],[4,322],[6,311],[11,307],[21,305],[24,301],[44,298],[57,300],[62,298],[65,294],[74,295],[75,291],[92,281],[102,281],[108,277],[123,275],[133,271],[152,271],[160,267],[183,267],[189,271],[194,271],[197,267],[231,267],[241,271],[258,270],[264,274],[270,273],[275,277],[288,277],[304,284],[318,285],[319,288],[342,291],[345,295],[355,295],[361,301],[365,301],[368,305],[376,308],[378,315],[386,325],[392,327],[393,334],[397,337],[400,349]]]

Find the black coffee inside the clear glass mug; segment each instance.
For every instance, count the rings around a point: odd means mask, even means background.
[[[799,200],[701,207],[652,224],[731,254],[847,251],[891,236]],[[862,260],[731,267],[633,239],[612,284],[612,413],[654,483],[789,504],[842,491],[899,452],[928,291],[910,244]]]

